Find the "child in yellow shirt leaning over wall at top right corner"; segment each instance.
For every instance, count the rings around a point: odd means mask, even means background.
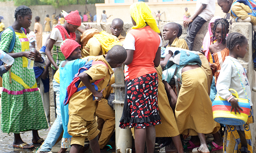
[[[254,3],[253,5],[255,6]],[[251,22],[253,30],[256,32],[256,17],[252,14],[253,10],[250,6],[237,2],[237,0],[218,0],[218,5],[221,6],[224,13],[229,13],[229,10],[231,10],[231,24],[234,22]]]

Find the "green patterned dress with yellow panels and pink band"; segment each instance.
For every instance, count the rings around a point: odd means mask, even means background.
[[[7,28],[1,36],[0,49],[8,52],[13,37]],[[13,53],[29,51],[25,33],[15,32]],[[33,69],[27,68],[27,58],[14,58],[9,72],[3,74],[1,129],[3,133],[47,129],[43,103]]]

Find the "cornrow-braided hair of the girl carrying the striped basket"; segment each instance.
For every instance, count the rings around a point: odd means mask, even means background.
[[[238,32],[234,32],[227,37],[227,48],[232,50],[236,45],[243,45],[246,42],[246,37]]]

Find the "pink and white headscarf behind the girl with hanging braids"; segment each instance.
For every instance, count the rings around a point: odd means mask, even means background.
[[[211,23],[214,23],[215,20],[220,19],[220,18],[221,18],[220,16],[212,17],[212,19],[210,20],[209,25],[208,25],[208,31],[203,38],[203,49],[204,50],[206,49],[205,56],[207,59],[208,59],[208,54],[209,54],[209,46],[211,45],[211,36],[213,35],[212,30],[211,30]]]

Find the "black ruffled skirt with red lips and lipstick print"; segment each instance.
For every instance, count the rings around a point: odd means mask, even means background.
[[[119,127],[146,128],[161,124],[157,95],[157,73],[125,81],[125,103]]]

